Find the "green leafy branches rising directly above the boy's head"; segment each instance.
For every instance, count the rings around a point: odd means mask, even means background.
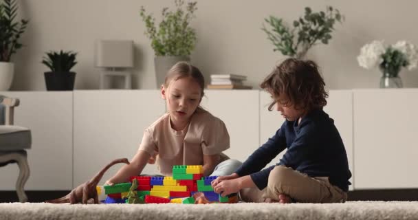
[[[311,8],[306,7],[305,16],[295,20],[292,29],[288,28],[282,19],[274,16],[265,19],[271,29],[267,29],[264,24],[261,29],[276,47],[274,51],[278,50],[285,56],[303,58],[309,48],[316,45],[318,41],[324,44],[329,43],[336,21],[342,23],[344,17],[340,11],[331,6],[327,6],[325,12],[312,12]]]

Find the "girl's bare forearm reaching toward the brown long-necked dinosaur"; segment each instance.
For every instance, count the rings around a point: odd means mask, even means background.
[[[106,181],[107,185],[126,183],[129,177],[140,175],[151,155],[142,150],[138,150],[131,159],[131,164],[122,166],[113,177]]]

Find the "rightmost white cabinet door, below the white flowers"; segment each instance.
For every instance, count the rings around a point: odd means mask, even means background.
[[[417,188],[418,90],[354,91],[355,189]]]

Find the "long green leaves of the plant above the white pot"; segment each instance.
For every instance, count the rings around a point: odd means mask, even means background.
[[[14,22],[16,16],[16,1],[4,0],[0,3],[0,61],[3,62],[9,62],[12,54],[23,46],[19,39],[29,21],[21,19],[20,23]]]

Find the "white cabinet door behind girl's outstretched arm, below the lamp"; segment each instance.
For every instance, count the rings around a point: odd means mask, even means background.
[[[74,186],[113,159],[129,160],[140,146],[144,129],[164,114],[158,90],[74,91]],[[111,167],[100,184],[122,167]],[[142,173],[158,174],[155,165]]]

